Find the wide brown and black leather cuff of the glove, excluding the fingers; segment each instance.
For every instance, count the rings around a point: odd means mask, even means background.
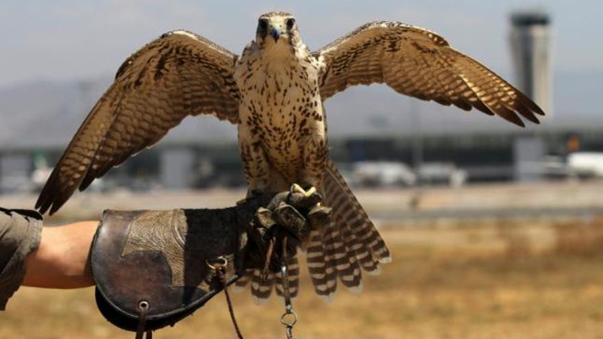
[[[210,210],[106,211],[92,251],[99,310],[136,330],[141,303],[147,329],[175,323],[237,278],[245,231]],[[225,262],[225,277],[212,269]]]

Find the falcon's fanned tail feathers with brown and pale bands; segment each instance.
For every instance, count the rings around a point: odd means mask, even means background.
[[[327,227],[311,229],[305,250],[315,292],[330,301],[338,280],[348,290],[360,292],[362,271],[378,274],[380,264],[391,262],[391,254],[367,212],[331,160],[327,161],[320,192],[324,205],[332,208],[331,222]],[[295,297],[299,292],[297,256],[288,262],[288,270],[291,295]],[[256,301],[270,297],[273,289],[282,296],[280,273],[271,273],[267,279],[262,279],[260,270],[249,270],[236,281],[235,286],[245,287],[249,282]]]

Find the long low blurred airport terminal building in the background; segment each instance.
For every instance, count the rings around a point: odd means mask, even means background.
[[[602,128],[602,125],[556,127],[535,134],[527,131],[476,131],[472,134],[426,131],[418,137],[334,136],[330,139],[330,153],[345,174],[351,173],[354,169],[352,164],[357,162],[401,162],[412,165],[415,159],[413,142],[420,138],[425,168],[415,168],[419,173],[434,168],[434,165],[437,168],[454,165],[454,168],[467,173],[470,182],[512,181],[517,179],[517,161],[522,158],[521,152],[556,157],[555,166],[563,162],[568,153],[576,150],[576,140],[580,140],[580,151],[602,152]],[[527,143],[524,142],[526,139]],[[533,140],[539,142],[534,143]],[[39,190],[40,180],[32,179],[36,169],[35,158],[44,154],[47,163],[54,164],[64,147],[65,144],[51,147],[40,145],[36,151],[30,147],[0,147],[0,192]],[[524,162],[524,170],[540,178],[567,175],[563,168],[561,171],[558,171],[559,168],[550,171],[546,159],[543,156],[534,162]],[[38,186],[32,186],[36,182]],[[228,142],[210,142],[199,134],[199,138],[190,140],[164,140],[155,148],[130,158],[106,175],[101,189],[115,186],[149,190],[158,187],[182,189],[244,185],[245,178],[234,136]]]

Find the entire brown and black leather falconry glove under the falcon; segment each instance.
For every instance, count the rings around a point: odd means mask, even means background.
[[[135,331],[143,305],[145,330],[158,329],[193,313],[246,270],[267,260],[274,269],[282,249],[267,255],[266,240],[286,237],[295,247],[309,232],[288,204],[300,208],[292,197],[261,196],[219,210],[104,212],[91,255],[99,310]]]

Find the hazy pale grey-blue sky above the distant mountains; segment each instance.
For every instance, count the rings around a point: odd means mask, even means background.
[[[602,71],[603,2],[595,0],[0,0],[0,86],[114,73],[135,49],[170,29],[190,29],[240,53],[254,38],[258,14],[270,10],[295,14],[311,49],[367,21],[402,21],[432,29],[510,74],[508,13],[538,5],[552,15],[555,70]]]

